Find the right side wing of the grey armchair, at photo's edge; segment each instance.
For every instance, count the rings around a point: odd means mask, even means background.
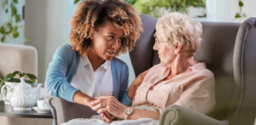
[[[241,24],[233,61],[235,89],[227,119],[232,125],[253,125],[256,116],[256,18]]]

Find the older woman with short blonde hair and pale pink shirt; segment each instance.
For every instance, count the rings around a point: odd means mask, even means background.
[[[154,43],[160,64],[132,82],[126,92],[133,99],[132,106],[122,105],[111,96],[102,96],[90,105],[98,113],[108,111],[127,120],[159,120],[167,105],[182,105],[202,114],[209,113],[215,105],[214,76],[205,63],[193,57],[200,47],[201,34],[201,23],[186,14],[175,12],[160,18]]]

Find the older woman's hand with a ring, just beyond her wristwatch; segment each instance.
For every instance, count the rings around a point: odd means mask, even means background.
[[[92,110],[97,111],[97,113],[109,112],[113,116],[123,118],[124,112],[127,106],[122,105],[119,100],[115,99],[113,96],[101,96],[96,98],[95,101],[90,103]]]

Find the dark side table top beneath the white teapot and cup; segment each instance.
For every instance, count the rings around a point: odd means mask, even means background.
[[[27,118],[53,118],[52,113],[38,113],[34,109],[30,111],[15,111],[11,105],[4,105],[0,100],[0,116],[15,116]]]

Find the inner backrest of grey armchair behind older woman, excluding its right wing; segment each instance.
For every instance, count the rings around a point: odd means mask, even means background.
[[[147,14],[141,14],[141,19],[143,32],[136,43],[136,47],[130,52],[131,63],[136,76],[153,65],[160,63],[157,51],[153,50],[153,35],[157,20]],[[203,28],[201,38],[203,41],[194,57],[195,60],[207,64],[207,68],[214,73],[216,81],[217,103],[215,109],[208,116],[224,120],[227,118],[227,112],[230,107],[231,111],[238,111],[240,99],[236,99],[236,97],[240,98],[242,95],[241,82],[235,83],[234,81],[233,67],[236,35],[241,23],[201,22],[201,24]],[[235,91],[234,88],[236,88]],[[233,95],[236,95],[236,97]],[[235,99],[232,99],[232,97]]]

